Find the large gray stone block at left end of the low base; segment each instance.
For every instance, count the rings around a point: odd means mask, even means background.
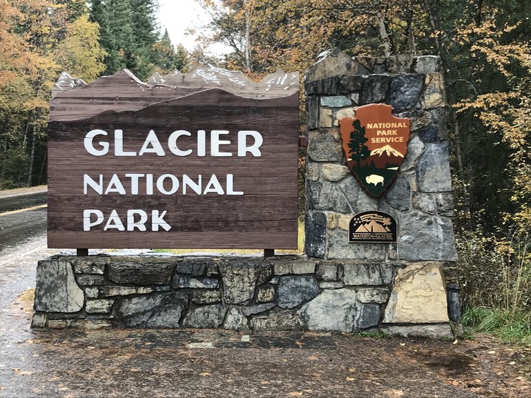
[[[77,312],[84,305],[83,290],[77,286],[70,262],[43,260],[37,264],[35,311]]]

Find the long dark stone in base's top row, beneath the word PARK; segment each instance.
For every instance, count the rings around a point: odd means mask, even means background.
[[[170,283],[175,263],[142,261],[126,258],[108,263],[108,278],[115,283],[133,285],[167,285]]]

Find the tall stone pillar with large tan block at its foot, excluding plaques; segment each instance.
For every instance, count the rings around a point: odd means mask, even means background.
[[[351,58],[332,50],[309,68],[305,89],[307,255],[360,268],[367,263],[393,268],[382,326],[403,334],[446,335],[445,282],[454,282],[456,248],[440,60]],[[393,186],[379,199],[351,174],[338,128],[340,119],[354,117],[358,106],[369,103],[390,104],[396,117],[411,121],[407,155]],[[367,210],[396,219],[397,243],[348,242],[351,217]]]

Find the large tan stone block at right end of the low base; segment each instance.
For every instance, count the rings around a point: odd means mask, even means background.
[[[385,308],[385,324],[448,322],[443,267],[440,263],[412,263],[400,268]]]

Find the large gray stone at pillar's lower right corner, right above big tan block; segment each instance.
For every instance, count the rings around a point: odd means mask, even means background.
[[[399,259],[456,261],[454,229],[447,217],[407,212],[398,228]]]

